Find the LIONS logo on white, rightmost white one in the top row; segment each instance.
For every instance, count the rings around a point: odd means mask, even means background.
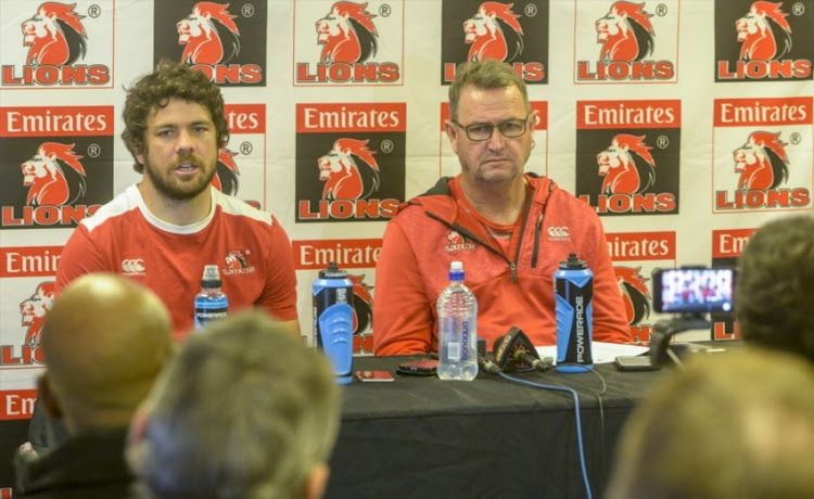
[[[653,56],[657,40],[653,23],[654,18],[663,17],[660,22],[677,24],[674,21],[677,18],[677,11],[670,14],[671,9],[664,3],[656,9],[659,14],[650,11],[645,2],[611,3],[607,13],[595,20],[593,25],[594,37],[599,46],[598,59],[576,62],[576,81],[674,81],[675,63]],[[588,12],[577,15],[580,20],[585,20],[578,22],[581,28],[577,31],[587,37]],[[663,52],[664,50],[661,51]]]

